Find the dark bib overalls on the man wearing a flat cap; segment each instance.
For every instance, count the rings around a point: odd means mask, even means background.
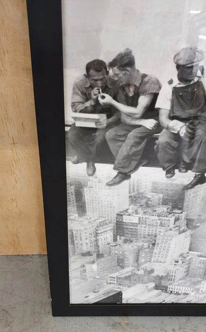
[[[168,82],[172,83],[172,80]],[[162,168],[175,167],[180,152],[180,158],[186,163],[193,163],[192,171],[206,172],[206,92],[201,81],[173,87],[169,118],[193,126],[194,137],[186,132],[180,138],[179,133],[163,129],[155,146]]]

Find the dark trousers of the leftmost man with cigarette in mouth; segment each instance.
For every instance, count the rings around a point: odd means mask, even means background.
[[[96,153],[105,140],[107,130],[115,126],[115,123],[106,128],[76,127],[75,123],[66,132],[66,150],[69,155],[77,156],[80,163],[94,161]]]

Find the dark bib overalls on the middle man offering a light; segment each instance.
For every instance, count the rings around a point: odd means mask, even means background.
[[[147,77],[147,75],[142,74],[141,83],[145,77]],[[118,98],[118,102],[136,108],[140,97],[139,88],[136,87],[133,96],[128,96],[123,87],[121,89],[123,89],[121,99]],[[141,118],[153,118],[158,121],[158,111],[154,109],[156,99],[157,93],[154,94],[154,98],[150,106]],[[125,123],[121,123],[120,125],[108,130],[106,133],[106,141],[113,156],[115,157],[113,169],[124,173],[128,173],[133,170],[141,160],[148,138],[153,134],[159,133],[160,130],[160,125],[158,125],[155,129],[148,129],[142,125],[131,125]]]

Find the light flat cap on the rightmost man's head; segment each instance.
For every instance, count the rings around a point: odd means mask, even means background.
[[[196,47],[185,47],[174,56],[174,63],[181,66],[193,66],[204,59],[204,52]]]

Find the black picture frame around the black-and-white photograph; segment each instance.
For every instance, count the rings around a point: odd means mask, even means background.
[[[205,316],[205,304],[69,303],[61,0],[27,0],[27,11],[52,315]]]

